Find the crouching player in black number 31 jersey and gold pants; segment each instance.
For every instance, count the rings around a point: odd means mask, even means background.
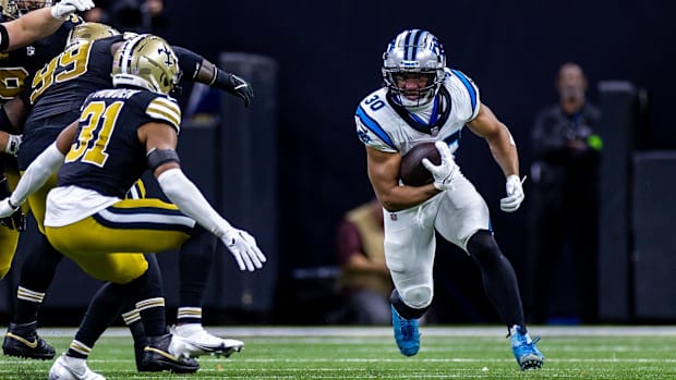
[[[180,248],[193,255],[215,250],[220,240],[241,270],[254,271],[266,260],[253,236],[218,214],[181,170],[176,152],[181,113],[167,95],[179,74],[177,60],[159,37],[125,41],[114,53],[116,88],[89,95],[79,120],[31,163],[14,194],[2,200],[0,208],[17,207],[60,168],[58,186],[47,198],[49,242],[116,290],[108,292],[114,296],[95,296],[68,353],[52,365],[50,379],[102,379],[86,366],[90,347],[125,298],[138,295],[150,301],[137,305],[148,340],[143,363],[171,360],[172,369],[189,370],[181,357],[190,348],[165,333],[164,303],[144,293],[154,286],[142,252]],[[173,204],[122,199],[148,169]]]

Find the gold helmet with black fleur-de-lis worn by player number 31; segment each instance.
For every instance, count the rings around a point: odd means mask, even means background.
[[[169,94],[180,78],[179,60],[160,37],[138,35],[126,40],[113,56],[112,84],[131,85]]]

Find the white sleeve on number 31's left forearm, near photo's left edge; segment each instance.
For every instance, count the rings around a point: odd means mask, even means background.
[[[51,174],[61,168],[64,158],[65,156],[59,150],[57,143],[45,149],[21,176],[14,193],[10,196],[11,205],[23,205],[31,194],[43,187]]]

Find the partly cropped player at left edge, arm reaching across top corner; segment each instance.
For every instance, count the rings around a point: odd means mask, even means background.
[[[43,8],[49,4],[51,1],[0,0],[0,103],[21,95],[28,76],[63,50],[69,30],[80,21],[73,12],[94,7],[89,0],[67,0],[55,7]],[[0,121],[5,118],[4,109],[0,108]],[[15,124],[21,122],[14,121]],[[10,185],[13,187],[19,181],[13,156],[16,155],[20,144],[19,131],[0,131],[0,196],[9,195]],[[5,161],[9,166],[7,176]],[[19,211],[9,218],[0,219],[0,224],[5,226],[0,226],[2,279],[10,270],[19,242],[19,231],[25,228],[25,219]]]

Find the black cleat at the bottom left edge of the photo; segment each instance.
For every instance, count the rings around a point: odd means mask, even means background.
[[[8,356],[48,360],[55,357],[55,348],[37,334],[37,322],[10,323],[2,352]]]

